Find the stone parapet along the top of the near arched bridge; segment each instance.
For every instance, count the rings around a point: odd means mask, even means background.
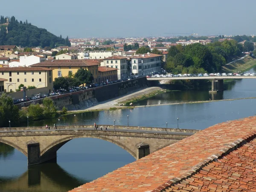
[[[104,130],[105,128],[113,130],[143,130],[143,131],[166,131],[166,128],[155,128],[155,127],[136,127],[136,126],[122,126],[122,125],[97,125],[98,130],[102,127]],[[50,130],[54,130],[53,126],[48,126]],[[56,125],[57,130],[65,130],[65,129],[93,129],[94,125]],[[11,127],[11,128],[0,128],[0,131],[32,131],[32,130],[45,130],[45,127]],[[177,129],[177,128],[167,128],[168,132],[180,132],[180,133],[197,133],[200,130],[195,129]]]

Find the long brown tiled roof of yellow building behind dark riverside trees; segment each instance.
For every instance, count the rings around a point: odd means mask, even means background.
[[[67,60],[62,60],[62,59],[57,59],[57,60],[47,60],[43,61],[41,63],[37,64],[32,64],[30,67],[58,67],[58,66],[76,66],[76,67],[88,67],[88,66],[93,66],[93,65],[99,65],[100,61],[96,59],[67,59]]]

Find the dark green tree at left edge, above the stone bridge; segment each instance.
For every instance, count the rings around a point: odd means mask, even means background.
[[[12,126],[19,123],[19,108],[13,105],[12,97],[3,93],[0,96],[0,127],[9,127],[9,121]]]

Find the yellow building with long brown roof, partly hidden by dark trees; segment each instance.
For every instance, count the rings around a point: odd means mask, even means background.
[[[52,69],[53,80],[58,77],[68,76],[71,71],[73,74],[79,69],[86,69],[93,75],[94,82],[98,83],[98,67],[100,61],[96,59],[70,59],[70,60],[47,60],[41,63],[30,65],[30,67],[47,67]]]

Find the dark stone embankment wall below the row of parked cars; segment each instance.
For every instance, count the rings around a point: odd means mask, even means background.
[[[63,95],[55,95],[50,98],[54,101],[58,110],[66,107],[68,111],[79,110],[84,107],[89,107],[98,102],[113,99],[118,96],[125,95],[129,91],[136,90],[142,87],[147,87],[147,79],[145,77],[138,79],[131,79],[114,84],[108,84],[102,87],[95,87],[87,90],[76,91],[73,93],[66,93]],[[42,99],[20,103],[17,106],[27,107],[31,103],[41,103]]]

